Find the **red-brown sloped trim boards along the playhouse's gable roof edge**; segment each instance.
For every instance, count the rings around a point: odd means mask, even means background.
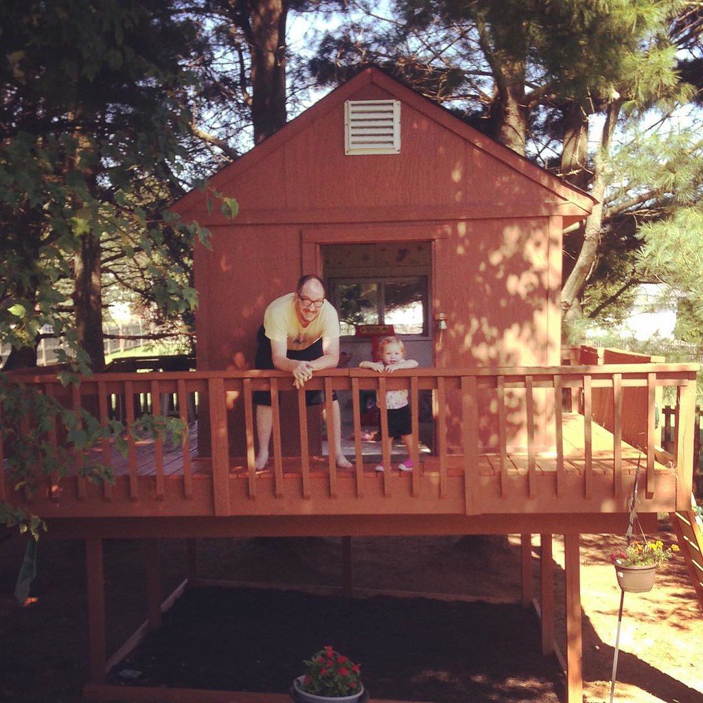
[[[571,183],[560,179],[546,169],[527,160],[527,158],[515,153],[512,149],[470,127],[470,125],[452,115],[449,110],[436,105],[428,98],[421,96],[390,77],[378,67],[373,66],[364,69],[352,79],[349,79],[349,81],[338,86],[320,101],[295,117],[295,119],[281,127],[261,144],[252,148],[238,160],[224,166],[209,179],[209,187],[214,188],[216,191],[223,191],[229,181],[241,176],[244,172],[257,165],[266,156],[283,146],[285,142],[307,129],[313,122],[319,120],[330,110],[343,104],[344,101],[347,101],[354,93],[368,84],[379,86],[397,100],[410,105],[430,120],[434,120],[434,122],[441,124],[446,129],[453,131],[453,133],[470,142],[475,148],[491,155],[491,157],[496,158],[525,178],[547,188],[560,196],[560,198],[564,198],[567,202],[576,205],[576,207],[583,210],[583,217],[586,217],[591,212],[593,205],[598,202],[586,191],[582,191],[581,188],[577,188]],[[183,195],[182,198],[176,200],[171,209],[181,214],[181,216],[185,216],[188,211],[195,208],[202,201],[202,198],[204,198],[202,191],[194,188],[186,195]]]

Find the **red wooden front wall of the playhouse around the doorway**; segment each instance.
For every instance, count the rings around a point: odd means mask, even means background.
[[[240,205],[234,221],[209,214],[204,198],[183,212],[213,234],[212,251],[195,250],[198,368],[252,368],[266,305],[302,273],[324,275],[321,245],[406,240],[432,242],[430,315],[448,318],[441,339],[431,320],[436,366],[557,366],[562,217],[549,211],[562,199],[448,129],[444,110],[436,120],[407,101],[399,154],[347,156],[344,100],[396,96],[370,83],[330,104],[335,93],[218,176]],[[520,399],[511,403],[517,441]],[[485,444],[496,438],[494,404],[484,398]],[[231,451],[243,456],[241,399],[228,415]],[[289,434],[295,445],[297,429]]]

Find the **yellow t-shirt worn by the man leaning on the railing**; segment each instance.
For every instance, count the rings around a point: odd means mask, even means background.
[[[264,313],[264,332],[273,342],[286,342],[286,349],[307,349],[320,337],[335,339],[340,336],[340,318],[333,304],[323,302],[320,314],[303,327],[295,314],[295,293],[276,298]]]

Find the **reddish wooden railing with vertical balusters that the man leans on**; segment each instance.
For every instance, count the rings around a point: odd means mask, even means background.
[[[442,501],[450,493],[456,499],[456,486],[462,486],[463,510],[467,514],[482,512],[486,488],[484,466],[491,467],[497,491],[496,498],[525,498],[529,501],[538,494],[545,495],[544,486],[549,482],[548,493],[556,500],[565,494],[573,496],[574,486],[579,485],[580,496],[588,501],[594,496],[596,476],[602,479],[603,461],[594,457],[594,396],[599,404],[610,399],[612,412],[612,452],[607,466],[612,467],[608,478],[609,494],[622,498],[624,462],[622,457],[623,427],[640,415],[645,427],[641,445],[643,469],[647,491],[655,486],[655,465],[662,457],[657,453],[654,428],[654,398],[657,389],[664,386],[676,388],[677,404],[674,410],[676,433],[673,440],[671,463],[676,469],[676,503],[687,504],[692,484],[693,417],[695,413],[695,373],[692,364],[627,364],[623,366],[562,366],[549,368],[422,368],[401,370],[392,375],[379,375],[361,369],[335,369],[319,372],[306,385],[306,389],[321,389],[326,393],[325,409],[328,423],[333,423],[332,392],[350,392],[354,427],[354,468],[337,468],[334,442],[329,443],[328,456],[324,458],[324,471],[320,459],[309,449],[309,420],[302,390],[292,387],[290,374],[278,371],[220,371],[189,373],[137,373],[98,374],[82,379],[80,385],[63,387],[56,378],[46,376],[15,376],[13,382],[22,382],[41,394],[58,400],[69,408],[84,408],[98,418],[102,425],[110,421],[111,413],[122,408],[127,425],[134,425],[139,412],[148,412],[153,418],[175,415],[184,427],[193,422],[193,408],[197,397],[200,410],[207,408],[207,428],[211,451],[207,458],[193,458],[188,433],[183,434],[177,448],[179,470],[173,475],[165,468],[165,440],[158,436],[147,449],[133,433],[127,434],[127,460],[124,477],[116,486],[105,483],[96,494],[82,474],[86,463],[100,461],[115,466],[115,446],[103,439],[98,448],[90,452],[72,451],[75,476],[75,498],[86,501],[89,496],[105,501],[120,499],[138,502],[165,501],[177,496],[179,501],[193,500],[195,477],[206,479],[212,496],[212,514],[238,513],[236,501],[242,496],[256,501],[262,496],[276,500],[307,501],[324,494],[328,498],[364,498],[379,492],[389,498],[399,494],[407,498],[422,496],[428,500]],[[259,472],[254,466],[254,404],[256,390],[270,390],[273,413],[273,447],[268,472]],[[363,464],[361,447],[360,392],[376,392],[380,406],[382,434],[382,462],[390,465],[385,392],[389,389],[407,389],[411,403],[412,428],[419,434],[419,394],[431,391],[434,399],[434,451],[429,457],[415,451],[413,470],[401,484],[393,472],[383,472],[381,477],[370,472]],[[646,398],[636,406],[628,403],[628,393],[638,389]],[[282,418],[278,393],[292,394],[297,401],[298,418]],[[562,403],[565,396],[578,392],[583,415],[583,453],[581,471],[577,477],[569,474],[565,466],[565,437],[563,432]],[[643,394],[643,395],[642,395]],[[228,406],[235,411],[229,411]],[[205,406],[205,408],[204,408]],[[237,409],[238,408],[238,409]],[[231,442],[228,412],[239,412],[241,443]],[[627,413],[627,418],[626,418]],[[299,456],[291,463],[285,456],[282,425],[292,422],[299,434]],[[22,419],[26,431],[32,418]],[[231,421],[229,423],[231,425]],[[199,427],[202,432],[205,424]],[[330,429],[328,434],[333,436]],[[50,446],[65,442],[67,431],[54,423],[46,430],[44,439]],[[0,447],[0,451],[1,451]],[[4,451],[11,452],[11,442],[6,441]],[[153,475],[140,475],[139,452],[150,451]],[[169,460],[172,455],[169,454]],[[519,461],[515,461],[518,457]],[[0,456],[0,467],[4,467]],[[598,463],[598,469],[595,464]],[[197,464],[197,467],[196,467]],[[549,465],[551,470],[544,471]],[[517,470],[516,470],[517,467]],[[373,468],[373,467],[372,467]],[[547,476],[548,474],[548,476]],[[236,482],[231,479],[236,477]],[[296,480],[290,480],[295,478]],[[51,484],[51,479],[45,479]],[[578,483],[575,484],[574,481]],[[174,484],[175,482],[175,484]],[[234,491],[233,486],[245,484],[245,489]],[[601,484],[599,483],[599,486]],[[8,483],[8,486],[11,484]],[[176,487],[177,486],[177,487]],[[323,489],[321,488],[323,486]],[[402,487],[401,487],[402,486]],[[494,484],[491,484],[494,486]],[[56,488],[56,486],[54,486]],[[491,491],[494,489],[491,487]],[[600,491],[600,487],[599,487]],[[0,499],[11,499],[6,482],[0,481]],[[51,499],[60,491],[47,494]],[[600,496],[600,493],[599,493]],[[450,501],[451,502],[451,501]],[[624,500],[621,501],[624,505]],[[449,505],[449,503],[448,503]],[[511,503],[512,505],[512,503]],[[673,508],[673,506],[672,506]],[[533,508],[534,509],[534,508]],[[251,512],[251,507],[247,507]],[[148,511],[147,511],[148,512]],[[177,511],[176,511],[177,512]]]

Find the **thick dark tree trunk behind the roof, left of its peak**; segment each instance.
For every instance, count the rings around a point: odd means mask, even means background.
[[[250,11],[252,123],[259,144],[283,127],[285,114],[285,0],[259,0]]]

